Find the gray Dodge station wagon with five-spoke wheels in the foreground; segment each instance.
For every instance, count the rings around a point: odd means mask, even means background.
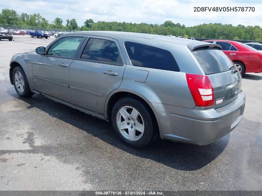
[[[67,33],[15,54],[17,94],[40,94],[112,123],[127,145],[162,139],[207,145],[239,124],[242,77],[221,47],[128,32]]]

